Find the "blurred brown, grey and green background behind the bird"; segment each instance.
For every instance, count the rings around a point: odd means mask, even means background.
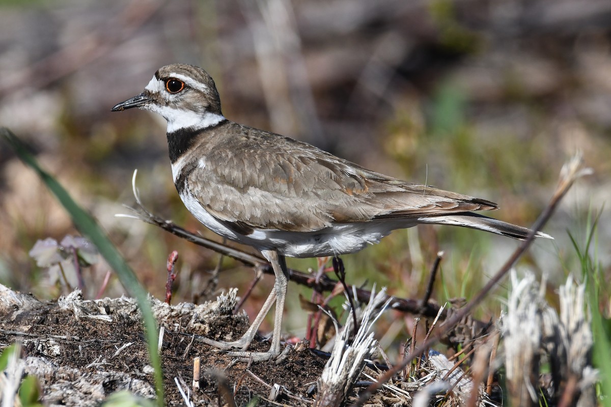
[[[2,1],[0,125],[109,232],[158,298],[178,250],[174,301],[203,300],[218,254],[137,220],[131,175],[151,211],[220,240],[191,217],[172,183],[165,121],[111,113],[174,62],[214,77],[227,118],[279,132],[364,167],[499,203],[492,214],[531,225],[577,150],[595,170],[569,193],[520,268],[550,289],[576,264],[599,215],[595,255],[611,259],[611,2],[608,0]],[[40,297],[65,294],[28,252],[38,239],[76,235],[34,173],[0,144],[0,283]],[[348,283],[420,298],[438,250],[434,298],[466,297],[518,245],[458,228],[397,231],[343,256]],[[316,268],[315,259],[290,267]],[[223,259],[219,289],[251,284]],[[84,270],[93,298],[108,266]],[[70,278],[69,278],[70,279]],[[253,317],[273,278],[245,305]],[[214,288],[214,287],[213,287]],[[505,287],[499,289],[500,292]],[[122,287],[111,276],[104,295]],[[305,312],[291,284],[285,331],[302,336]],[[499,304],[478,310],[496,315]],[[392,320],[388,322],[392,323]]]

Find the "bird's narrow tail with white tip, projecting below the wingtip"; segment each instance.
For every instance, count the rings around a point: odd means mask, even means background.
[[[464,228],[478,229],[486,232],[492,232],[503,236],[513,237],[513,239],[524,240],[530,233],[529,228],[512,225],[511,223],[503,222],[502,220],[489,218],[484,215],[474,214],[473,212],[464,212],[464,214],[452,215],[435,215],[423,216],[418,218],[419,223],[432,223],[435,225],[455,225],[463,226]],[[549,234],[536,232],[536,237],[545,237],[546,239],[554,239]]]

